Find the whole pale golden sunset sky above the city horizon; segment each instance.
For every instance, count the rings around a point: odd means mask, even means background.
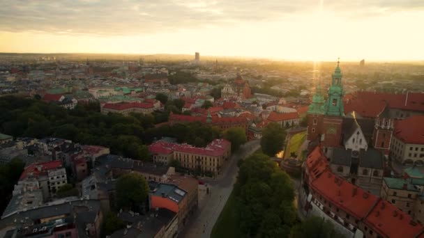
[[[423,0],[1,0],[0,52],[424,60]]]

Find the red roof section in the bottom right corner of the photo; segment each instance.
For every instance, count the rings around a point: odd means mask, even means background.
[[[373,230],[391,238],[416,237],[423,226],[411,221],[411,216],[385,200],[380,200],[364,219],[364,223]]]

